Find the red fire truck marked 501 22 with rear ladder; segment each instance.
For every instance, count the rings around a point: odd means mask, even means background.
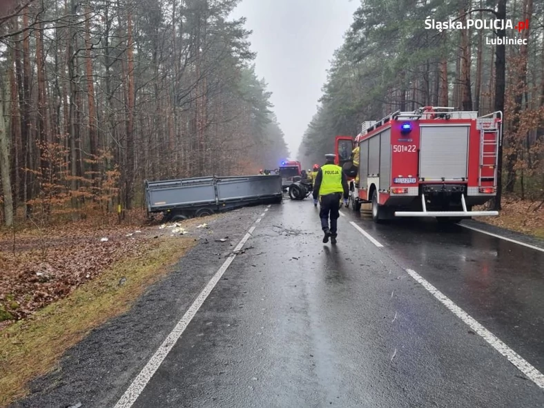
[[[472,211],[472,206],[496,195],[502,119],[501,112],[478,117],[477,112],[426,106],[365,122],[356,137],[359,183],[350,182],[351,207],[360,211],[362,203],[371,203],[374,222],[393,217],[458,222],[498,215]]]

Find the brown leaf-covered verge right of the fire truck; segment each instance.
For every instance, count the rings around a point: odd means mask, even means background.
[[[535,211],[540,201],[517,200],[505,197],[498,217],[481,217],[478,221],[494,226],[544,238],[544,205]]]

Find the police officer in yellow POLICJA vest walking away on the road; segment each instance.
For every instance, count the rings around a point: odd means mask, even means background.
[[[321,166],[318,175],[313,184],[313,200],[320,200],[321,209],[319,217],[321,219],[321,228],[324,233],[323,243],[329,242],[336,244],[337,222],[340,217],[340,200],[342,195],[344,203],[347,203],[349,197],[349,186],[347,177],[340,166],[334,164],[336,155],[325,155],[327,163]],[[329,217],[331,227],[329,229]]]

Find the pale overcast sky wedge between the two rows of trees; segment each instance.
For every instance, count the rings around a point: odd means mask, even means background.
[[[242,0],[232,17],[253,30],[255,70],[271,91],[291,158],[315,114],[333,52],[342,45],[359,0]],[[333,136],[333,135],[331,135]]]

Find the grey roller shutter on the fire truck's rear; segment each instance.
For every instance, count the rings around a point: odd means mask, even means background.
[[[419,177],[425,180],[467,178],[469,126],[420,126]]]

